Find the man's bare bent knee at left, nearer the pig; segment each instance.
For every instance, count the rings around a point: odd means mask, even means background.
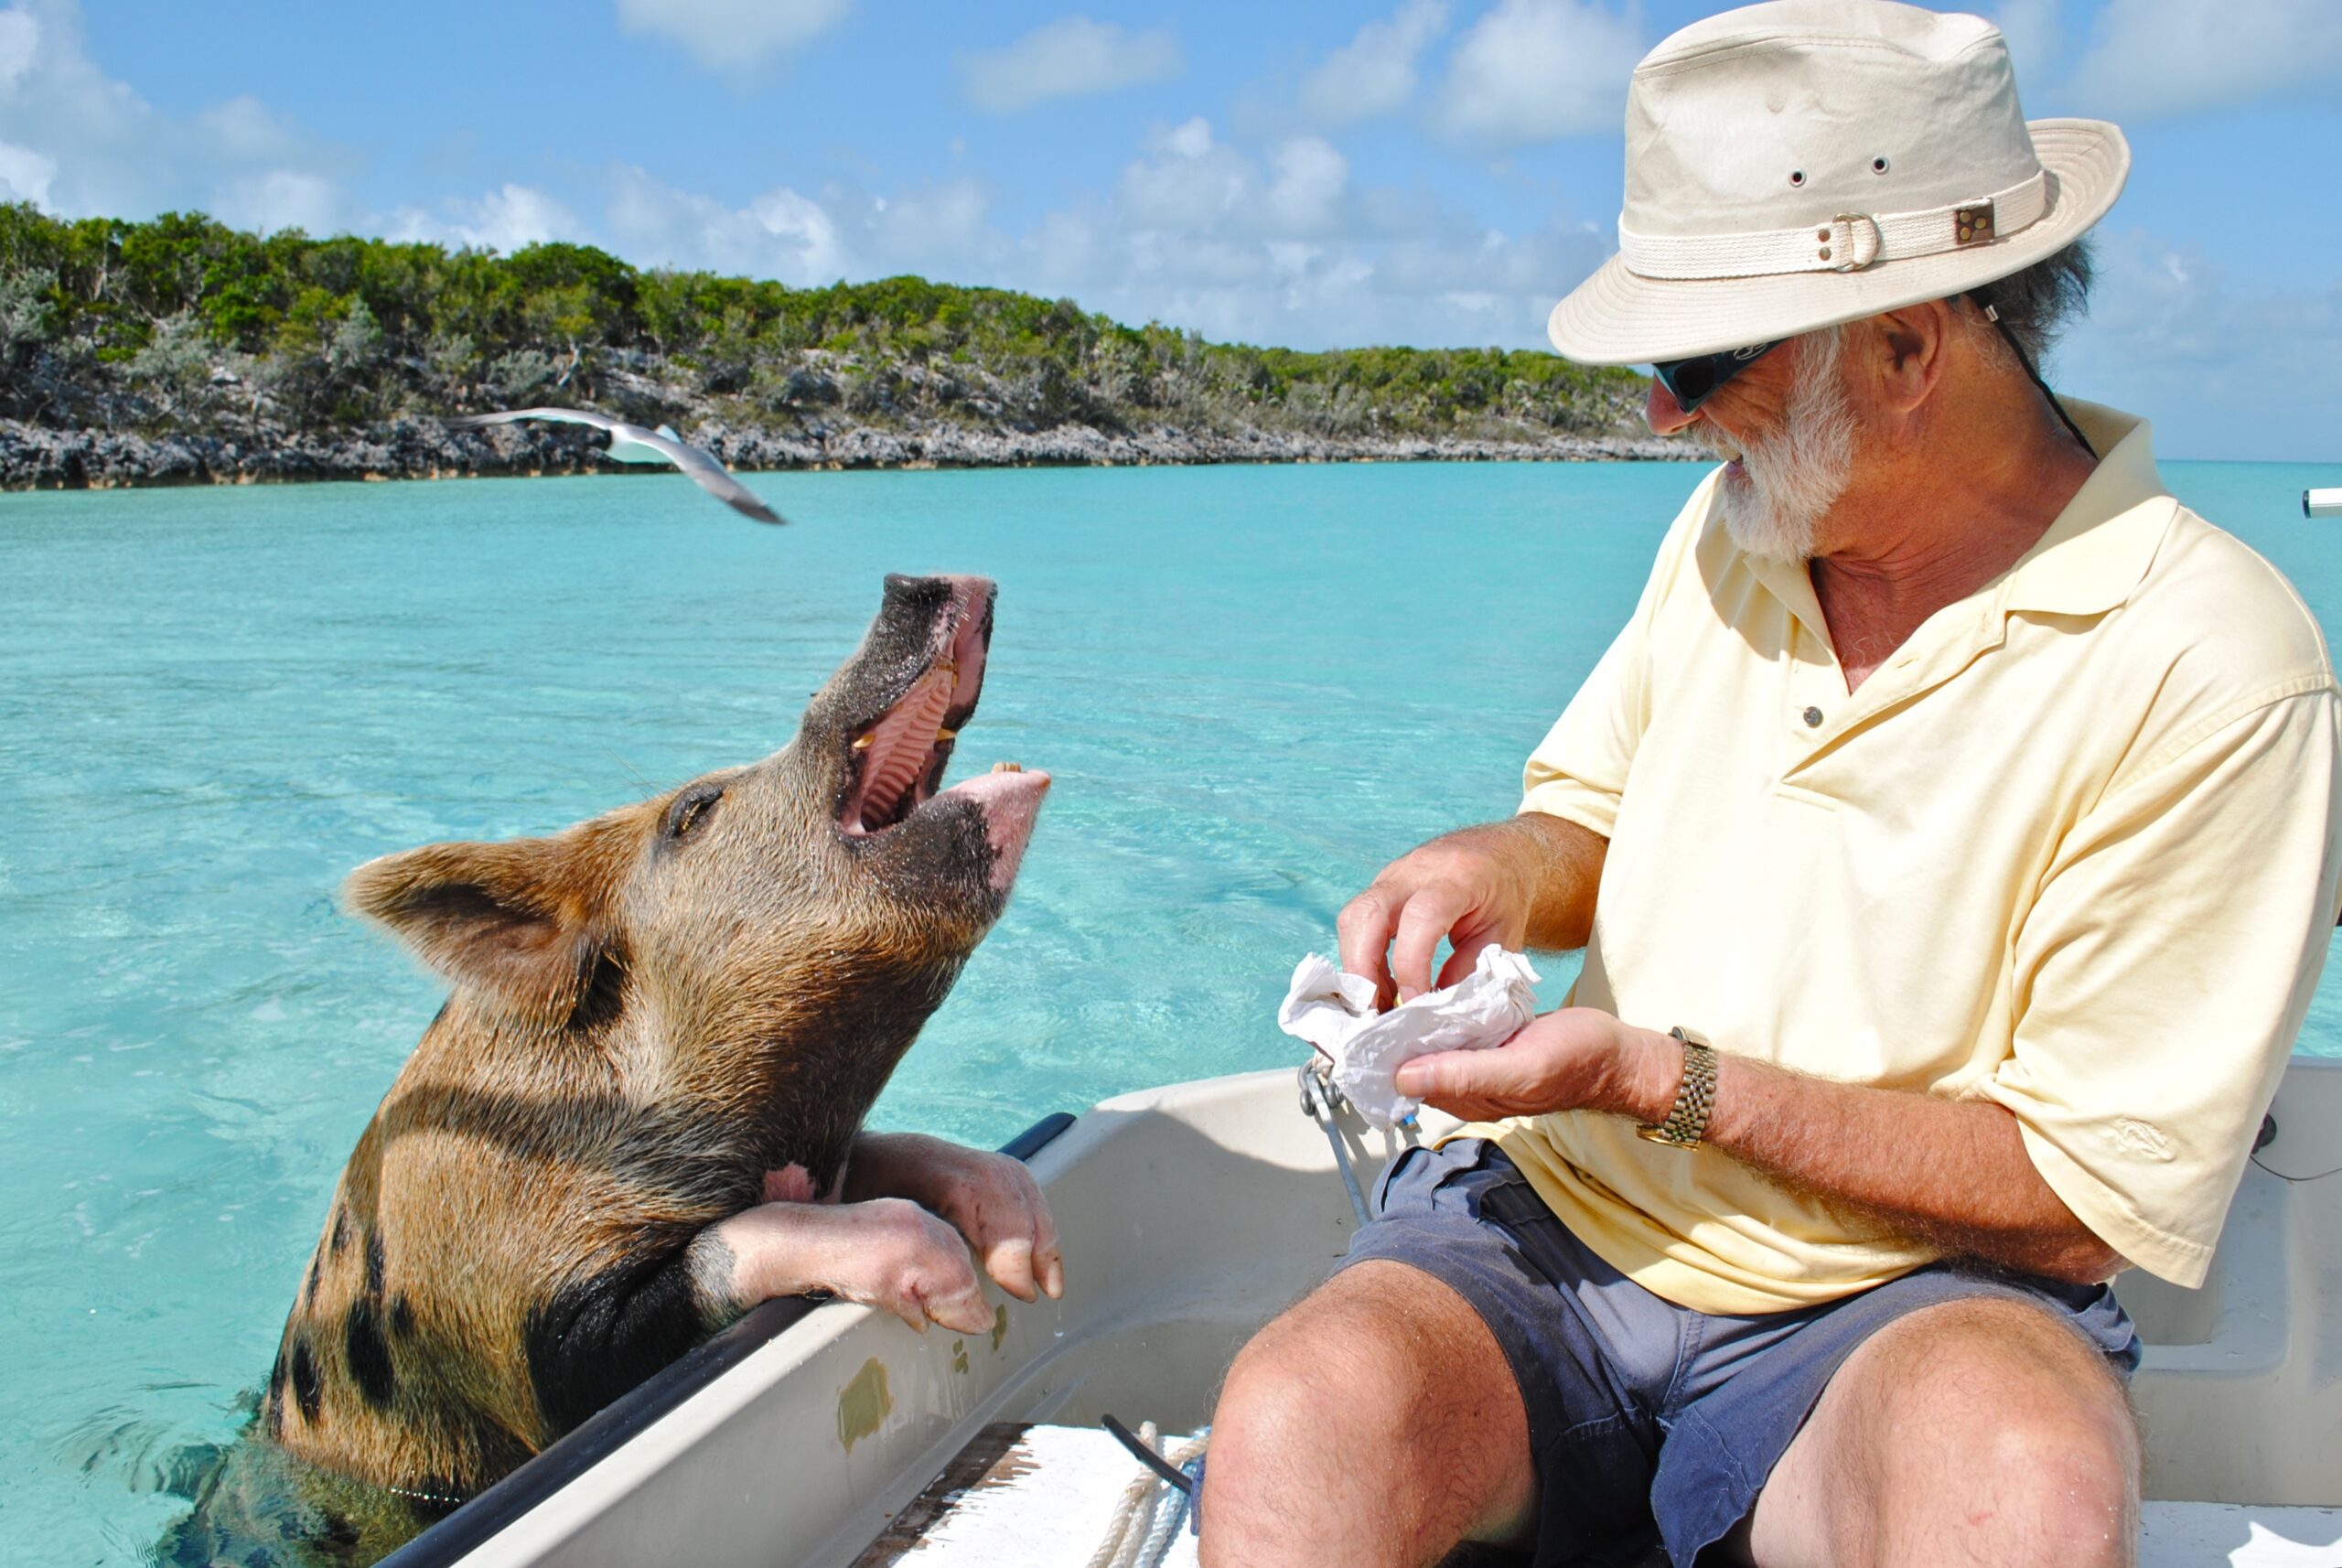
[[[1527,1538],[1529,1416],[1480,1315],[1419,1268],[1363,1261],[1265,1327],[1220,1390],[1206,1568],[1419,1568]]]

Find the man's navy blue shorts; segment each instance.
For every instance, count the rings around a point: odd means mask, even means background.
[[[1822,1388],[1904,1313],[1977,1297],[2042,1306],[2124,1378],[2138,1334],[2105,1285],[1930,1264],[1841,1301],[1724,1318],[1653,1297],[1553,1217],[1497,1144],[1410,1149],[1342,1268],[1389,1259],[1440,1280],[1487,1322],[1529,1411],[1536,1568],[1623,1563],[1668,1547],[1677,1568],[1724,1540]]]

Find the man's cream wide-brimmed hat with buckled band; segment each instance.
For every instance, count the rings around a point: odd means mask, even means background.
[[[2026,122],[1981,16],[1724,12],[1635,68],[1618,255],[1548,332],[1588,365],[1649,365],[1944,300],[2073,243],[2129,169],[2101,119]]]

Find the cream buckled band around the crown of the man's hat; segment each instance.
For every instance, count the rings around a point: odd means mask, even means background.
[[[1918,213],[1838,213],[1829,222],[1761,234],[1637,234],[1618,215],[1618,260],[1639,278],[1768,278],[1787,271],[1862,271],[1913,255],[1972,250],[2028,227],[2049,206],[2049,171],[1974,201]]]

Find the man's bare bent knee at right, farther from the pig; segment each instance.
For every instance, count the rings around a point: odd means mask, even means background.
[[[1735,1538],[1759,1568],[2127,1566],[2138,1428],[2082,1336],[1946,1301],[1845,1357]]]

